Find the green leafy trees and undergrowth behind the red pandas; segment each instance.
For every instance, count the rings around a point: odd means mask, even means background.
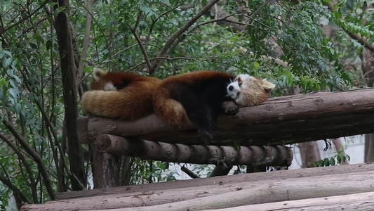
[[[2,210],[12,194],[20,207],[91,188],[90,151],[79,144],[75,125],[95,66],[160,78],[247,72],[274,82],[275,95],[295,86],[308,92],[373,85],[370,71],[361,70],[374,49],[370,1],[0,5]],[[168,163],[123,158],[123,184],[173,179],[161,176],[166,169]]]

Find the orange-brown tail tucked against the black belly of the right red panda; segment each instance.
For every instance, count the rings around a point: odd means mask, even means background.
[[[157,89],[153,98],[154,113],[161,120],[180,125],[189,125],[192,122],[187,117],[185,108],[182,104],[170,98],[166,89]]]

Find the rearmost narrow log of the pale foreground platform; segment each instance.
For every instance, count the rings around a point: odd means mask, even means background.
[[[246,181],[248,183],[257,183],[258,181],[274,180],[274,179],[290,179],[298,177],[313,177],[325,176],[335,177],[335,174],[345,174],[352,172],[368,172],[374,171],[374,163],[363,163],[354,165],[336,165],[330,167],[316,167],[300,170],[274,171],[274,172],[259,172],[252,174],[236,174],[230,176],[188,179],[179,181],[166,181],[152,184],[138,184],[132,186],[120,186],[114,188],[99,188],[84,191],[70,191],[56,194],[57,200],[69,200],[74,198],[94,197],[122,193],[135,193],[141,191],[162,191],[166,189],[180,189],[187,187],[209,186],[215,184],[234,184]],[[328,175],[328,176],[327,176]]]

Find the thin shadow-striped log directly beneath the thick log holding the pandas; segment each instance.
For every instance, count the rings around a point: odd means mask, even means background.
[[[120,136],[100,134],[94,146],[102,153],[126,155],[146,160],[187,162],[197,164],[278,165],[290,166],[293,151],[286,146],[232,146],[184,145],[124,139]]]

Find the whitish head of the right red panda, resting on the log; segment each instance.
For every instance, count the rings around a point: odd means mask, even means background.
[[[267,79],[241,74],[227,85],[227,96],[234,99],[239,106],[255,106],[267,101],[269,91],[274,87],[275,85]]]

